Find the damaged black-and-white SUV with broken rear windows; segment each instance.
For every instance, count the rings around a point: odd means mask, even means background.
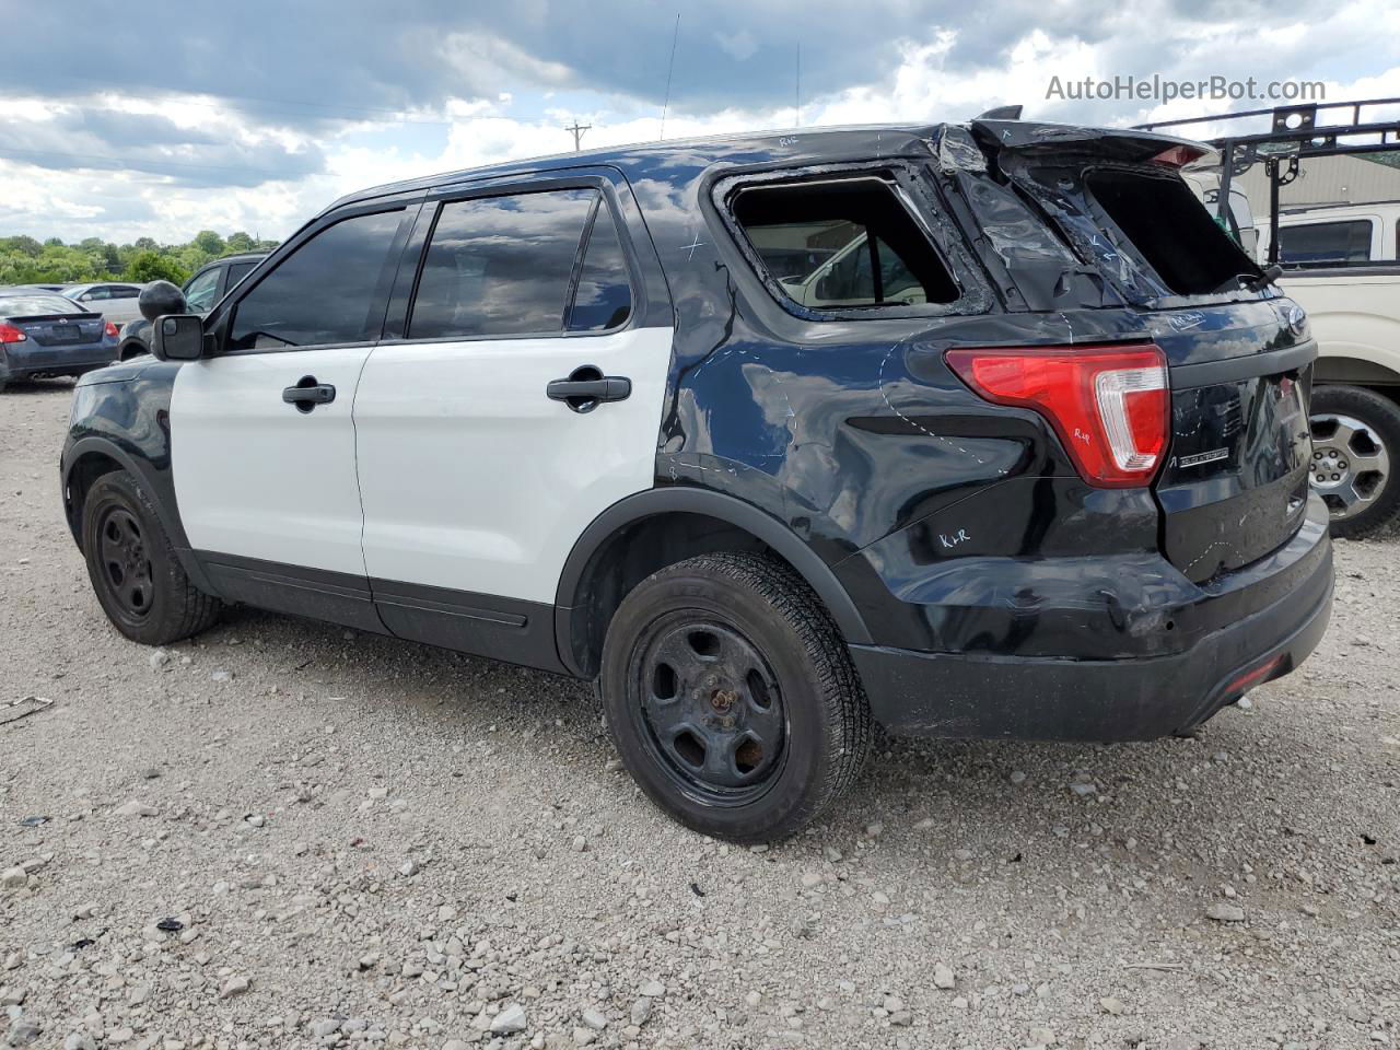
[[[356,193],[77,388],[97,596],[223,602],[598,683],[690,827],[794,832],[875,722],[1148,739],[1331,605],[1302,312],[1204,147],[987,116]]]

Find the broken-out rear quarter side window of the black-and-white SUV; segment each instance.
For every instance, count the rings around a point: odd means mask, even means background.
[[[958,284],[881,178],[743,189],[734,218],[769,276],[809,309],[955,302]]]

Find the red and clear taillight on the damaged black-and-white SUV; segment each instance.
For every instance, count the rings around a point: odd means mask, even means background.
[[[1166,357],[1155,346],[949,350],[948,364],[998,405],[1035,409],[1089,484],[1148,484],[1166,451]]]

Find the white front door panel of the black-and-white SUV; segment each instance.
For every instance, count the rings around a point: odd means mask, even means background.
[[[175,498],[190,546],[364,575],[350,410],[370,347],[190,361],[171,396]],[[315,377],[336,399],[281,399]]]

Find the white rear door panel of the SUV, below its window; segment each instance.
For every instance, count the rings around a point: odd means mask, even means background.
[[[552,603],[580,533],[654,484],[671,336],[377,347],[354,413],[370,577]],[[588,413],[545,396],[581,365],[631,395]]]

